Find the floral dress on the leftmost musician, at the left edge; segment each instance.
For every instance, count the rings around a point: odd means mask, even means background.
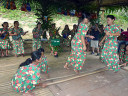
[[[0,28],[0,34],[2,31],[8,32],[8,29]],[[6,39],[1,39],[0,38],[0,49],[10,49],[11,48],[11,43],[9,36],[7,36]]]

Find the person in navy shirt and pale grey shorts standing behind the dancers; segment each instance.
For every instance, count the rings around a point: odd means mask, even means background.
[[[99,34],[100,29],[98,28],[98,24],[95,24],[94,29],[91,30],[91,35],[95,38],[91,40],[92,47],[92,55],[95,54],[95,48],[97,49],[97,56],[99,56]]]

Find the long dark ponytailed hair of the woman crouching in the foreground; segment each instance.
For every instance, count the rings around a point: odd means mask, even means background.
[[[19,68],[22,67],[22,66],[26,66],[26,65],[31,64],[32,61],[35,61],[36,59],[39,60],[40,57],[41,57],[41,53],[40,53],[40,52],[38,52],[38,51],[32,52],[32,54],[31,54],[31,59],[28,58],[25,62],[21,63],[20,66],[19,66]]]

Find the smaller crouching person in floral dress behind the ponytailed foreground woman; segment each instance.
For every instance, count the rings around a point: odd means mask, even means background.
[[[39,67],[41,68],[41,71],[45,72],[45,74],[47,74],[48,76],[49,69],[47,64],[47,57],[44,55],[44,49],[40,48],[38,49],[38,52],[41,53],[41,59],[42,59],[41,63],[39,63]]]

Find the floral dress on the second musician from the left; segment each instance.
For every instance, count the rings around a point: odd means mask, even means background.
[[[24,31],[22,28],[18,28],[18,30],[12,28],[9,30],[10,33],[15,34],[17,33],[18,36],[12,36],[13,37],[13,50],[15,54],[24,54],[24,44],[23,40],[21,38],[21,35],[24,34]],[[19,38],[17,38],[19,37]]]

